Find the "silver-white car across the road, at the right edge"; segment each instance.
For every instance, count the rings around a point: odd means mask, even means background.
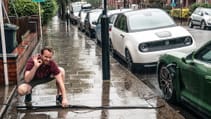
[[[189,19],[189,27],[200,26],[201,29],[211,27],[211,9],[198,7],[191,14]]]

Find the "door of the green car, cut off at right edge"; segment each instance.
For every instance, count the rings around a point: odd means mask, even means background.
[[[201,62],[201,70],[199,76],[201,78],[201,89],[202,89],[202,107],[211,112],[211,43],[205,45],[196,54],[196,59]]]

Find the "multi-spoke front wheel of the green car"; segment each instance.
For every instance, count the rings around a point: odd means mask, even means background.
[[[173,85],[173,70],[170,70],[165,65],[159,68],[158,83],[163,97],[166,101],[175,103],[176,102],[176,91]]]

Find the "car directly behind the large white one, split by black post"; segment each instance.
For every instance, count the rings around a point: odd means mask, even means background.
[[[111,27],[112,27],[114,20],[115,20],[118,13],[126,12],[126,11],[132,11],[132,10],[133,9],[129,9],[129,8],[109,10],[107,12],[107,16],[108,16],[108,19],[109,19],[109,31],[111,30]],[[98,17],[98,20],[95,23],[96,24],[96,28],[95,28],[96,42],[98,44],[102,42],[102,40],[101,40],[101,18],[102,18],[102,14]]]

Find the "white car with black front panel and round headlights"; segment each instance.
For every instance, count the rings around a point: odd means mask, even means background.
[[[161,9],[141,9],[119,13],[110,32],[110,50],[136,72],[156,67],[160,55],[171,51],[195,49],[192,35],[177,26]]]

